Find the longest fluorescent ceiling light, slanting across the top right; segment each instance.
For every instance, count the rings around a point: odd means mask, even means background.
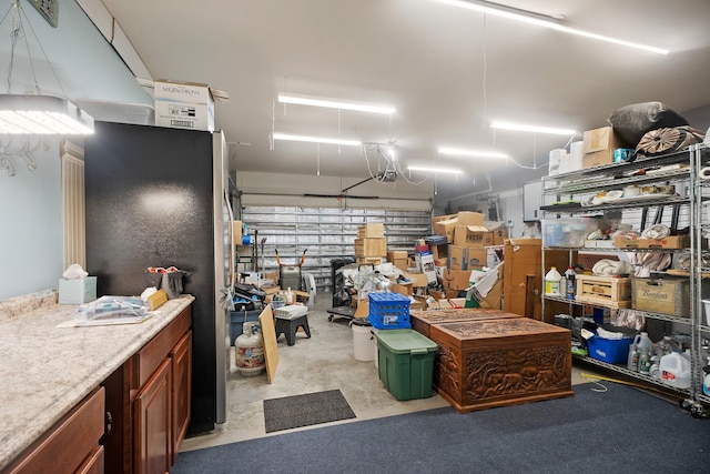
[[[504,4],[491,3],[488,1],[477,0],[434,0],[439,3],[446,3],[455,7],[462,7],[474,11],[485,12],[486,14],[493,14],[496,17],[507,18],[509,20],[521,21],[525,23],[537,24],[538,27],[549,28],[551,30],[561,31],[568,34],[576,34],[579,37],[591,38],[599,41],[606,41],[609,43],[620,44],[629,48],[636,48],[645,51],[655,52],[658,54],[668,54],[667,49],[657,48],[648,44],[635,43],[631,41],[623,41],[617,38],[605,37],[604,34],[597,34],[585,30],[578,30],[576,28],[566,27],[555,17],[536,13],[528,10],[521,10]]]

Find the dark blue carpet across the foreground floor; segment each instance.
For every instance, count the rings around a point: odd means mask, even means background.
[[[710,420],[626,385],[452,407],[180,453],[173,473],[708,473]]]

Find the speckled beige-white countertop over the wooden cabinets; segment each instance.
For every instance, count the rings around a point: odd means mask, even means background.
[[[139,324],[57,327],[75,305],[0,319],[0,470],[193,301],[169,300]]]

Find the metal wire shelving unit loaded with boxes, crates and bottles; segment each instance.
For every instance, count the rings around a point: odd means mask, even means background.
[[[629,369],[627,355],[632,342],[631,335],[625,334],[616,341],[605,337],[604,333],[595,334],[586,341],[587,344],[585,341],[577,342],[580,350],[576,356],[680,392],[688,397],[688,406],[703,410],[700,402],[707,405],[710,397],[699,390],[704,377],[702,366],[707,364],[700,345],[701,341],[710,337],[710,325],[704,325],[701,299],[708,297],[709,284],[701,278],[704,270],[702,259],[696,259],[693,268],[691,255],[701,255],[703,249],[707,249],[707,240],[698,231],[710,228],[710,218],[703,205],[704,182],[698,178],[701,167],[708,165],[708,154],[703,150],[707,145],[693,145],[682,152],[659,158],[615,162],[615,150],[625,147],[610,127],[587,131],[584,135],[582,168],[544,179],[546,194],[565,195],[566,199],[579,201],[596,198],[598,201],[590,201],[591,205],[584,206],[544,206],[544,249],[574,250],[575,252],[570,252],[572,260],[569,264],[575,264],[574,260],[581,259],[582,255],[589,255],[588,252],[619,252],[630,255],[636,266],[619,272],[621,274],[615,274],[613,271],[604,273],[604,268],[600,268],[597,274],[586,272],[577,275],[574,297],[568,300],[569,311],[578,305],[606,309],[608,319],[605,322],[611,323],[611,327],[613,324],[621,327],[626,317],[641,317],[638,320],[640,327],[656,344],[665,337],[671,337],[681,346],[684,344],[689,347],[691,369],[688,379],[693,380],[693,383],[681,386],[674,383],[674,376],[666,376],[660,372],[657,376],[649,376],[648,373]],[[639,174],[640,170],[643,173]],[[656,170],[659,170],[658,173]],[[609,179],[621,173],[623,178],[620,180]],[[649,208],[656,212],[643,211]],[[666,216],[660,212],[663,208],[670,210]],[[607,211],[616,211],[616,214],[608,214]],[[588,216],[590,213],[602,212],[607,219]],[[555,219],[547,219],[550,214]],[[568,216],[559,219],[560,214]],[[655,215],[653,223],[647,222],[648,214]],[[607,232],[607,229],[613,231],[621,224],[637,233],[629,235],[627,230],[600,241],[588,238],[597,229],[602,232]],[[641,230],[651,225],[656,228],[656,232],[667,231],[668,234],[656,236],[658,234],[641,233]],[[683,228],[689,232],[679,234],[678,231]],[[670,258],[667,264],[651,263],[663,258]],[[550,262],[546,262],[545,252],[541,259],[542,266],[548,270]],[[640,273],[640,269],[648,270],[647,276]],[[691,299],[691,295],[694,297]],[[559,295],[544,295],[541,304],[544,306],[546,301],[561,300]],[[565,324],[561,317],[558,323]],[[585,345],[588,346],[588,355],[584,353]],[[662,354],[660,355],[662,359]],[[680,379],[686,380],[684,376]]]

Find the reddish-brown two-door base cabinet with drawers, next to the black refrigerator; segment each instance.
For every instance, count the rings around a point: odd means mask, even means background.
[[[104,382],[106,473],[170,471],[190,424],[191,325],[189,306]]]

